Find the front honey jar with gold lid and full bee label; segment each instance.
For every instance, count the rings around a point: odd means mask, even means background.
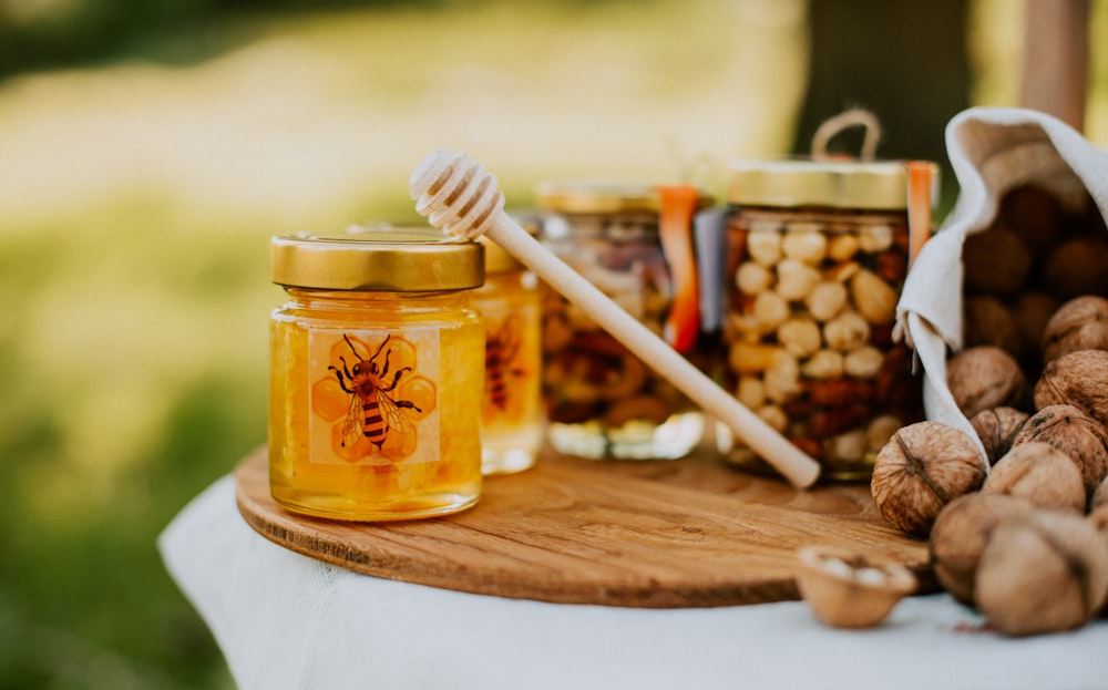
[[[483,248],[425,230],[275,237],[269,482],[309,515],[387,521],[476,503]]]

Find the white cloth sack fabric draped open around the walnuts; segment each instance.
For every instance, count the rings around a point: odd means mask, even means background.
[[[963,347],[962,245],[988,226],[1006,190],[1026,183],[1048,188],[1064,205],[1084,203],[1088,190],[1108,217],[1108,151],[1055,117],[1002,107],[955,116],[946,127],[946,150],[957,202],[912,266],[896,309],[897,332],[923,365],[927,419],[977,439],[946,385],[946,358]]]

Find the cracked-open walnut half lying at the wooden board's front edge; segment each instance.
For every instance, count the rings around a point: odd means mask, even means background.
[[[804,546],[797,556],[800,596],[817,618],[837,628],[873,627],[916,588],[915,576],[903,565],[876,563],[844,548]]]

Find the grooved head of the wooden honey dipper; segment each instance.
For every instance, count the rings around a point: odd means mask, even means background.
[[[412,171],[408,193],[416,210],[454,239],[476,239],[504,208],[496,177],[464,153],[430,153]]]

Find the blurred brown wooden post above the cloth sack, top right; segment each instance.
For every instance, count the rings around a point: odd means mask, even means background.
[[[1089,0],[1025,0],[1020,105],[1083,131],[1088,90]]]

